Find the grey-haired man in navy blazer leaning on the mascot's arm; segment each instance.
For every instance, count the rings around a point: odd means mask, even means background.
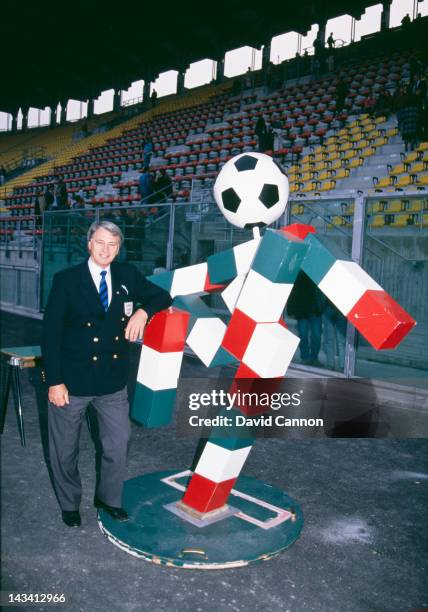
[[[141,339],[148,319],[171,303],[135,267],[113,261],[122,242],[114,223],[93,223],[89,259],[55,275],[43,321],[49,456],[62,519],[70,527],[81,524],[78,446],[89,403],[102,447],[94,505],[116,520],[128,519],[121,500],[130,434],[129,341]]]

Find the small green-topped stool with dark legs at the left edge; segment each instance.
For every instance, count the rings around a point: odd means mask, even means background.
[[[21,445],[25,446],[20,370],[23,368],[34,368],[41,364],[42,354],[40,346],[14,346],[11,348],[2,348],[0,352],[2,356],[7,358],[6,387],[0,413],[0,434],[2,434],[4,430],[10,387],[12,386]]]

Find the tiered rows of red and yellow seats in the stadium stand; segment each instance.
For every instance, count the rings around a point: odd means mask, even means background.
[[[152,168],[164,168],[171,177],[172,200],[188,200],[192,186],[212,186],[225,161],[257,149],[254,127],[260,115],[268,123],[279,122],[282,128],[274,156],[287,171],[293,197],[334,194],[338,181],[346,181],[396,135],[396,127],[385,126],[384,117],[370,117],[361,111],[368,95],[408,78],[409,66],[409,54],[395,54],[262,96],[255,90],[234,95],[229,81],[160,100],[157,107],[77,142],[70,142],[71,126],[47,131],[43,142],[52,159],[32,171],[31,180],[19,177],[7,184],[4,202],[8,212],[0,218],[0,228],[13,230],[16,220],[21,227],[24,221],[29,227],[34,225],[36,197],[58,178],[65,182],[70,195],[83,190],[88,205],[138,202],[138,174],[144,165],[142,143],[148,136],[154,142]],[[349,87],[345,109],[339,116],[334,99],[338,78]],[[422,143],[416,152],[391,167],[388,176],[378,178],[376,189],[423,188],[428,184],[427,164],[428,143]],[[377,209],[374,204],[370,226],[393,228],[409,225],[408,212],[421,214],[426,200],[420,202],[419,210],[405,208],[401,200],[387,206],[379,201]],[[296,214],[304,211],[298,208]],[[347,210],[345,218],[337,215],[330,225],[350,226],[352,214]]]

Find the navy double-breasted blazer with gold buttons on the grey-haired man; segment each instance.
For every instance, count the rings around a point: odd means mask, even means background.
[[[125,328],[138,306],[149,318],[171,304],[168,292],[134,266],[110,265],[112,299],[105,312],[88,262],[58,272],[43,319],[42,355],[49,386],[65,384],[70,395],[95,396],[125,387],[129,342]]]

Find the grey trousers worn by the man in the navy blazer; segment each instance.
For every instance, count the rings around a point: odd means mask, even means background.
[[[61,510],[77,510],[82,496],[78,469],[79,438],[86,408],[92,403],[102,447],[96,496],[110,506],[122,505],[123,481],[131,432],[126,389],[98,397],[70,396],[63,407],[49,402],[49,458]]]

